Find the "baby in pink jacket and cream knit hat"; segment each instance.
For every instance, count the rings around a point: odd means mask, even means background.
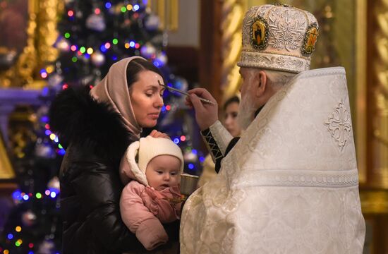
[[[129,182],[121,193],[121,217],[147,250],[168,241],[162,223],[179,219],[181,203],[173,201],[181,198],[182,172],[181,149],[168,138],[140,138],[121,159],[121,181]]]

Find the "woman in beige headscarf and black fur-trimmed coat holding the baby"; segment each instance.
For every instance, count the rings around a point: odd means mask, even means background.
[[[164,83],[159,70],[135,56],[114,63],[92,90],[64,90],[51,104],[50,126],[68,144],[60,171],[64,254],[145,250],[120,216],[119,163],[142,128],[157,123],[158,81]],[[164,227],[176,241],[178,222]]]

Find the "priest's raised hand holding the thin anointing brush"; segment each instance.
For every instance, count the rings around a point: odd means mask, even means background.
[[[195,120],[200,126],[200,130],[206,130],[213,123],[218,120],[218,105],[214,97],[210,95],[204,88],[194,88],[189,90],[188,93],[190,96],[186,97],[186,105],[195,110]],[[214,104],[202,102],[200,98],[208,99]]]

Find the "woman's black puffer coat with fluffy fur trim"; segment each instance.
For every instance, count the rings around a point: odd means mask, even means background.
[[[49,112],[51,129],[67,146],[59,177],[62,253],[143,253],[145,249],[123,224],[119,209],[123,189],[119,162],[133,140],[120,116],[106,104],[95,102],[89,91],[64,90]],[[178,222],[165,229],[171,241],[178,240]]]

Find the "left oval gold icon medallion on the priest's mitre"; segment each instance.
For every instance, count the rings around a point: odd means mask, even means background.
[[[258,16],[250,28],[250,42],[255,49],[265,49],[268,42],[268,23]]]

